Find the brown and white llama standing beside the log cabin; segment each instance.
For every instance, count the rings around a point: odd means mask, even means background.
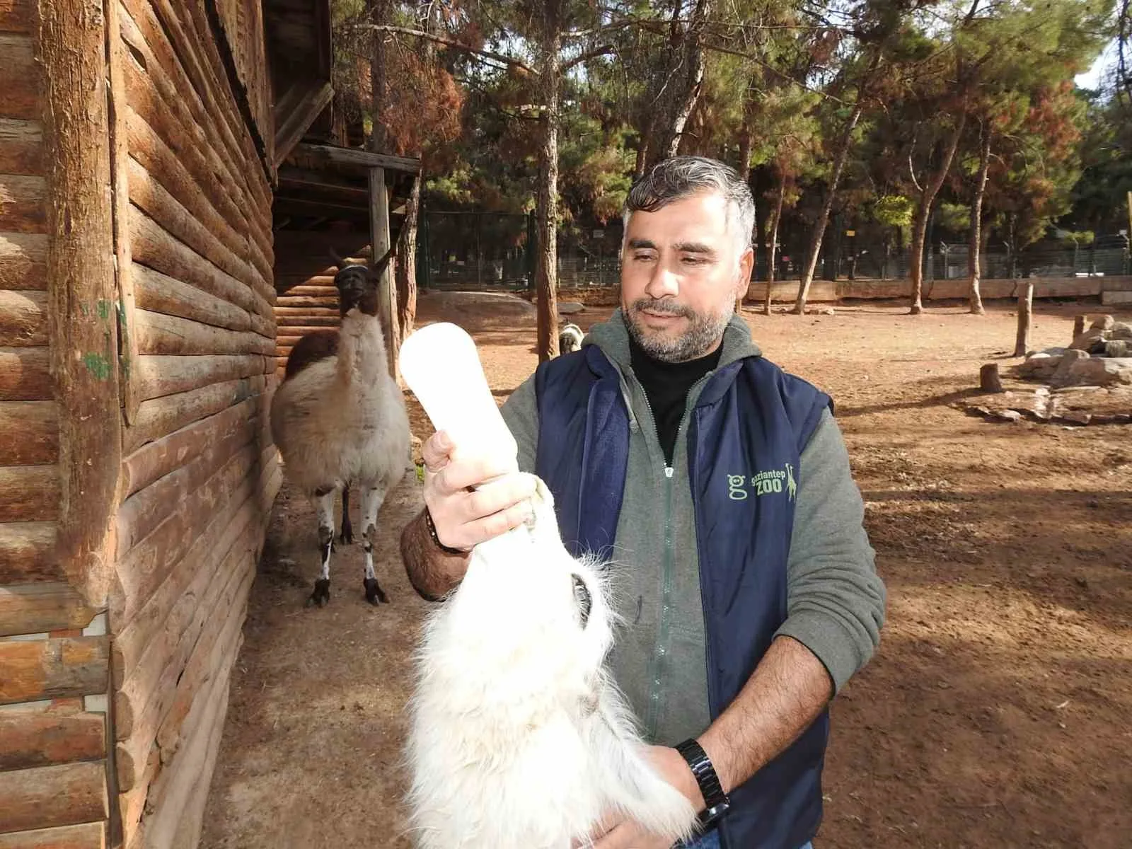
[[[391,250],[374,271],[340,263],[338,329],[305,335],[288,357],[272,400],[272,437],[292,486],[318,509],[320,571],[308,604],[331,600],[334,500],[342,491],[342,541],[353,541],[350,488],[361,490],[362,584],[371,603],[389,599],[374,572],[377,514],[409,464],[409,415],[389,375],[378,319],[377,285]]]

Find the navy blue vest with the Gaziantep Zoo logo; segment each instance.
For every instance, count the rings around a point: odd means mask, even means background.
[[[575,556],[608,554],[629,453],[618,372],[597,345],[586,345],[539,366],[535,394],[535,473],[554,494],[563,541]],[[692,411],[688,479],[712,720],[738,695],[786,620],[799,455],[826,406],[832,409],[829,396],[811,384],[748,357],[712,375]],[[731,792],[732,811],[720,826],[723,849],[798,849],[813,839],[827,738],[823,712]]]

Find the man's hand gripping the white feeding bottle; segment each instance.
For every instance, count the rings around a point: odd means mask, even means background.
[[[534,477],[514,471],[505,458],[463,455],[443,430],[428,438],[421,454],[424,504],[445,546],[471,549],[530,518]]]

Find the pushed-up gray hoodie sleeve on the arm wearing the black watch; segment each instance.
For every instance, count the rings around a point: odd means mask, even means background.
[[[864,518],[841,429],[826,410],[801,453],[787,620],[775,636],[809,649],[835,689],[868,662],[884,624],[885,589]]]

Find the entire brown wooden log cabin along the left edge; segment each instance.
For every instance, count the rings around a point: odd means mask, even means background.
[[[194,847],[329,3],[0,0],[0,849]]]

